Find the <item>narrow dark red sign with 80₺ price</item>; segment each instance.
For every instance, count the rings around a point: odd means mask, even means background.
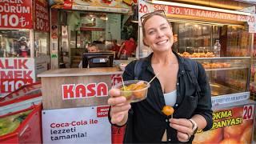
[[[49,10],[48,3],[42,0],[35,1],[35,30],[49,31]]]

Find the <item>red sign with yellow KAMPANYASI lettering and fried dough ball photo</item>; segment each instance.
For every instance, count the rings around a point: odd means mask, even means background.
[[[211,130],[198,131],[194,144],[199,143],[251,143],[254,127],[254,105],[238,106],[214,111]]]

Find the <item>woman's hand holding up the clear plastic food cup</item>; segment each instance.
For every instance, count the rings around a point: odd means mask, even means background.
[[[109,91],[110,98],[108,104],[111,106],[110,117],[111,123],[122,126],[127,122],[128,111],[130,110],[130,102],[121,96],[120,90],[111,89]]]

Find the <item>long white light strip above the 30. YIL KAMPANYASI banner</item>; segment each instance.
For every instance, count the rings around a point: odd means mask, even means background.
[[[235,11],[235,10],[225,10],[225,9],[218,9],[214,7],[206,7],[206,6],[196,6],[196,5],[189,5],[184,3],[177,3],[177,2],[165,2],[165,1],[146,1],[153,4],[159,5],[167,5],[167,6],[179,6],[179,7],[186,7],[192,9],[199,9],[199,10],[210,10],[210,11],[217,11],[222,13],[229,13],[229,14],[241,14],[241,15],[251,15],[250,13],[242,12],[242,11]]]

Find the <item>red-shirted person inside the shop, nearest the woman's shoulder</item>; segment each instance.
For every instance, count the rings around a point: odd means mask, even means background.
[[[126,40],[122,43],[122,46],[120,47],[120,50],[118,52],[118,58],[120,59],[126,59],[128,57],[131,57],[131,55],[136,50],[136,42],[134,38],[129,38],[129,40]]]

